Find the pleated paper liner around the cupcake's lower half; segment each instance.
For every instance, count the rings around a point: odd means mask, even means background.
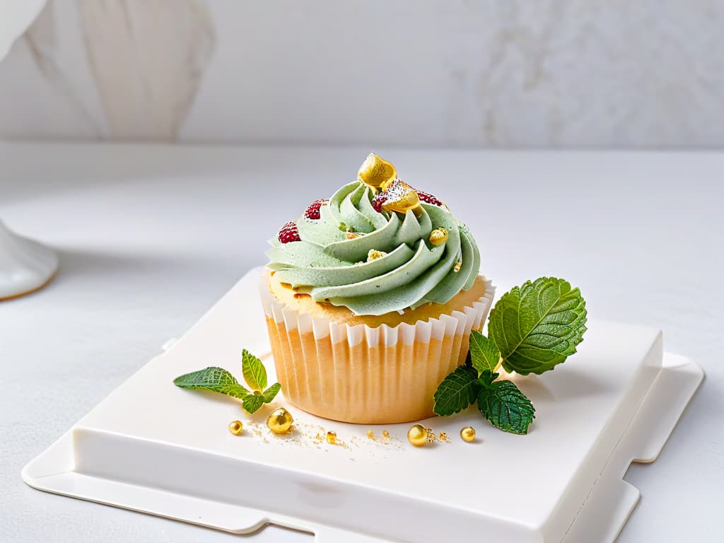
[[[338,421],[392,424],[432,415],[434,391],[464,362],[495,289],[487,281],[471,306],[395,327],[338,324],[287,307],[269,291],[266,272],[260,292],[287,400]]]

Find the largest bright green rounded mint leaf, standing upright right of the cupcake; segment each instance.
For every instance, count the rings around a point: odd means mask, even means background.
[[[564,362],[583,341],[586,300],[564,279],[528,281],[498,300],[488,332],[506,371],[542,374]]]

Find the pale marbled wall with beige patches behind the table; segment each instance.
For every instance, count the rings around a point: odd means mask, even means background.
[[[49,0],[0,137],[723,146],[724,1]]]

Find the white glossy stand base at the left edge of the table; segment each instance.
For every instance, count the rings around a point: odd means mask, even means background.
[[[11,232],[0,221],[0,301],[43,288],[57,269],[56,253]]]

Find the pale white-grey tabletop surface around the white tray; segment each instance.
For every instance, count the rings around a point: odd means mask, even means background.
[[[376,151],[468,222],[501,287],[566,277],[592,318],[660,327],[667,350],[704,368],[660,458],[628,471],[641,501],[618,541],[721,540],[724,153]],[[352,179],[366,152],[0,143],[0,217],[61,258],[46,290],[0,303],[1,541],[244,539],[37,492],[20,469],[264,261],[266,238]],[[248,539],[312,541],[274,526]]]

